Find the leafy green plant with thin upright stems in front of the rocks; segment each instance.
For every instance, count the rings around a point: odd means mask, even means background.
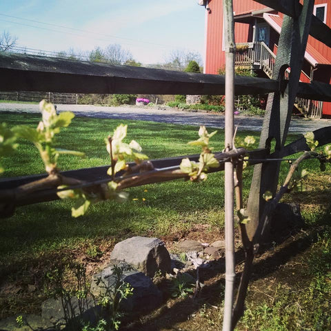
[[[90,285],[86,279],[86,268],[81,263],[63,263],[54,266],[50,272],[46,273],[46,294],[55,299],[60,298],[63,307],[64,320],[68,330],[81,331],[114,331],[119,330],[123,312],[121,311],[121,301],[128,299],[133,294],[133,288],[129,283],[123,281],[123,271],[126,266],[114,265],[112,272],[114,275],[114,285],[108,286],[101,278],[97,280],[102,291],[99,295],[90,292]],[[74,279],[74,283],[68,288],[66,277],[68,274]],[[77,298],[72,301],[72,298]],[[83,323],[79,318],[88,305],[88,300],[92,299],[94,305],[101,306],[101,312],[95,311],[98,323],[90,325]],[[93,306],[93,305],[92,305]],[[106,319],[101,317],[105,316]]]

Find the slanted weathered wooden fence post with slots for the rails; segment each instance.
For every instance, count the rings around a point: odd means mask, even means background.
[[[269,94],[259,148],[270,148],[274,141],[274,158],[279,159],[288,134],[294,99],[299,88],[299,78],[305,48],[310,30],[314,0],[307,0],[299,17],[285,16],[279,37],[279,48],[272,78],[283,77],[286,68],[290,67],[290,77],[281,93]],[[248,239],[255,240],[255,234],[263,214],[266,191],[275,194],[279,181],[280,162],[255,165],[250,195],[248,197],[247,214],[251,221],[245,225]]]

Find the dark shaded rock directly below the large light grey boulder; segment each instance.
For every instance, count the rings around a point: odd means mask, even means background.
[[[92,279],[91,292],[98,296],[108,292],[113,293],[116,277],[114,265],[123,268],[121,280],[130,283],[133,295],[121,301],[121,308],[127,312],[143,312],[157,308],[162,302],[162,294],[150,279],[143,272],[133,269],[124,261],[111,261],[110,266]]]

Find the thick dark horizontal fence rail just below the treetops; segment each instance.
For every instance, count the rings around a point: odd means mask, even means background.
[[[236,94],[264,94],[279,90],[278,81],[271,79],[237,76],[234,83]],[[217,74],[0,54],[1,91],[224,94],[224,84],[224,76]]]

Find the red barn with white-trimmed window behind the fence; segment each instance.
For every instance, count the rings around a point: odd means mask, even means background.
[[[223,1],[201,0],[205,6],[206,74],[217,74],[225,66],[223,43]],[[234,33],[237,44],[235,65],[254,70],[260,77],[271,77],[283,14],[252,0],[234,0]],[[331,0],[315,0],[314,14],[331,26]],[[331,49],[308,38],[300,80],[331,83]],[[295,106],[310,117],[331,115],[331,103],[297,98]]]

